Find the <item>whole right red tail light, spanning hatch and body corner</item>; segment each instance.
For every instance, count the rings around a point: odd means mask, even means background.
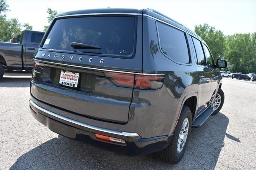
[[[164,83],[164,74],[129,74],[105,72],[116,86],[135,89],[160,89]]]

